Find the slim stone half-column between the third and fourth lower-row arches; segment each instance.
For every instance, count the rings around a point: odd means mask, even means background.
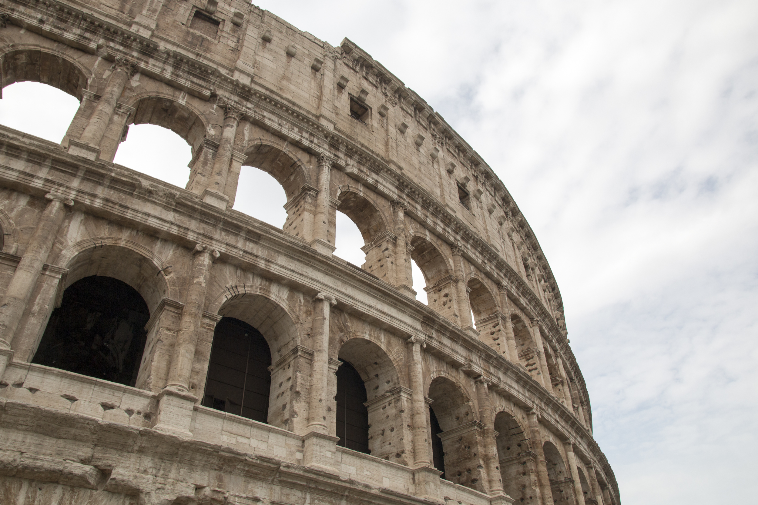
[[[408,376],[411,386],[411,422],[413,423],[413,466],[429,466],[429,441],[427,433],[428,412],[424,397],[424,370],[421,366],[421,348],[425,347],[424,338],[414,336],[408,339],[410,357]]]

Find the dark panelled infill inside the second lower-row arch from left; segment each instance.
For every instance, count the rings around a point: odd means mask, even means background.
[[[271,351],[261,332],[233,317],[221,318],[211,345],[202,404],[268,422]]]

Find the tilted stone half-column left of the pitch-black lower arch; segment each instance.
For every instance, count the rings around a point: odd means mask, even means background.
[[[74,204],[70,198],[54,193],[48,193],[45,198],[49,200],[49,203],[42,212],[42,216],[39,217],[27,250],[18,262],[0,305],[0,349],[11,348],[18,323],[29,304],[39,275],[42,273],[42,267],[47,261],[55,237],[58,235],[58,229],[63,223],[66,205]]]

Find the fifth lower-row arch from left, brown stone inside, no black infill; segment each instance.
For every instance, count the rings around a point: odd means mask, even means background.
[[[539,496],[537,460],[529,446],[529,437],[507,412],[495,416],[497,457],[503,489],[516,503],[534,503]]]

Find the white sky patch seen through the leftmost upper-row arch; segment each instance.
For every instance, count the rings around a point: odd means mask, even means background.
[[[61,142],[78,109],[79,100],[58,88],[42,83],[15,83],[2,90],[0,124],[50,142]]]

